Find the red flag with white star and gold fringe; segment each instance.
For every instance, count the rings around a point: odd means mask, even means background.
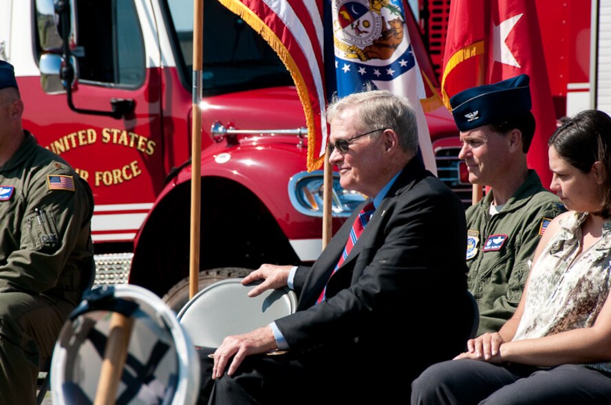
[[[528,166],[549,186],[547,142],[556,129],[537,9],[532,0],[452,0],[442,97],[528,74],[537,129]]]

